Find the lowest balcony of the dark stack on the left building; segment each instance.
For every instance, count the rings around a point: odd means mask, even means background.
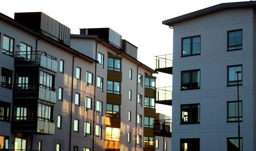
[[[11,122],[11,132],[27,134],[55,134],[53,119],[31,116],[14,116]]]

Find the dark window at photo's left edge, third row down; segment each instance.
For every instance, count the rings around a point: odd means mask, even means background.
[[[11,104],[0,101],[0,121],[10,121]]]

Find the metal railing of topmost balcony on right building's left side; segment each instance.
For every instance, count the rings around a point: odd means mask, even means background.
[[[155,56],[155,69],[168,68],[173,66],[173,54]]]

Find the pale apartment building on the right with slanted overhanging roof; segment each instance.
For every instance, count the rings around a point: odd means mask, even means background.
[[[163,21],[174,30],[172,150],[255,150],[255,7],[224,3]]]

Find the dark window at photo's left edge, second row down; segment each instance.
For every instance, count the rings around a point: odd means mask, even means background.
[[[12,88],[12,70],[2,67],[1,87],[5,87],[8,89]]]

